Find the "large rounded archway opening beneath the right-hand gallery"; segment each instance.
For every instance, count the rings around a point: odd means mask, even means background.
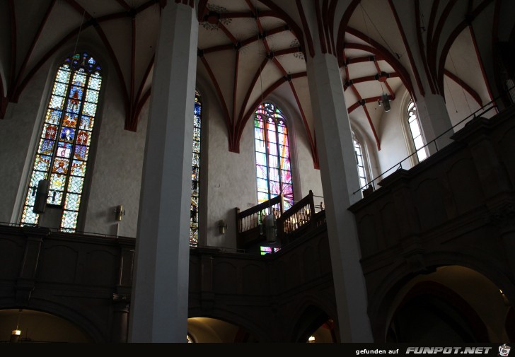
[[[482,293],[478,294],[480,290]],[[490,279],[461,266],[411,279],[390,308],[387,342],[502,343],[507,305]]]

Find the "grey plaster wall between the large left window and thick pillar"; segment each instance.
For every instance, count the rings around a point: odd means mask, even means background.
[[[117,78],[108,78],[102,90],[105,95],[101,117],[96,123],[99,127],[95,128],[100,130],[96,136],[94,167],[89,168],[93,175],[84,230],[135,237],[149,101],[139,115],[137,132],[128,131],[124,129],[125,111]],[[117,222],[113,211],[120,204],[125,216]]]

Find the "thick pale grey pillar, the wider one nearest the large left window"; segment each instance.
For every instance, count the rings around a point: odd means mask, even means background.
[[[197,37],[194,8],[168,1],[152,81],[129,342],[186,341]]]

